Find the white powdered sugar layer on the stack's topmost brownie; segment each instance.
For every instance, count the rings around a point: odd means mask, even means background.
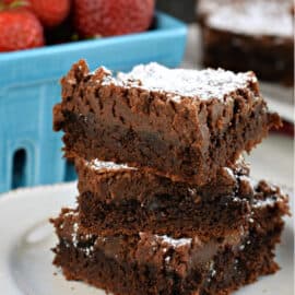
[[[249,82],[256,82],[257,79],[250,72],[235,74],[222,69],[168,69],[152,62],[137,66],[130,73],[119,73],[117,80],[111,81],[125,87],[165,92],[169,94],[169,99],[179,103],[180,96],[222,99],[224,95],[247,87]]]

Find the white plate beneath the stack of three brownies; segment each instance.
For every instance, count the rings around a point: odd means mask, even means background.
[[[75,184],[24,189],[0,196],[0,294],[5,295],[104,295],[80,282],[68,282],[52,267],[50,248],[56,244],[48,223],[61,206],[74,205]],[[292,221],[286,221],[276,260],[276,274],[237,292],[238,295],[292,295]]]

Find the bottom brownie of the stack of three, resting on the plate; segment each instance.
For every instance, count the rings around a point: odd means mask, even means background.
[[[59,237],[54,263],[68,280],[114,294],[229,294],[278,270],[274,247],[287,198],[266,182],[259,189],[249,226],[223,237],[198,232],[181,238],[148,232],[102,237],[85,234],[76,211],[64,209],[52,220]]]

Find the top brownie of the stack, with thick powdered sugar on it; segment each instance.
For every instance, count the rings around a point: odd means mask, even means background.
[[[215,178],[272,127],[252,72],[138,66],[114,76],[85,61],[62,79],[54,128],[69,158],[99,158],[196,185]]]

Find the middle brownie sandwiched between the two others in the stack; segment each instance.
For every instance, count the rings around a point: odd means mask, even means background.
[[[80,222],[101,235],[153,232],[222,235],[246,226],[253,198],[245,164],[221,168],[214,182],[173,182],[137,168],[76,160]]]

